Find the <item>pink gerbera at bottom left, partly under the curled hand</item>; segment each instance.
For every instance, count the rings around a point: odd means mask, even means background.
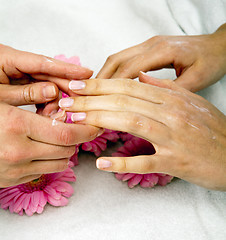
[[[71,165],[70,165],[71,166]],[[28,183],[0,189],[0,206],[11,213],[32,216],[42,213],[47,203],[53,206],[65,206],[74,192],[67,182],[75,182],[73,170],[68,167],[63,172],[43,174]]]

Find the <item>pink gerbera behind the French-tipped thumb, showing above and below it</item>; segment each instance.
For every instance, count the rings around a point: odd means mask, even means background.
[[[114,157],[130,157],[137,155],[152,155],[155,153],[155,149],[151,143],[148,141],[138,138],[126,136],[123,137],[130,138],[130,140],[124,143],[124,146],[120,147],[117,152],[113,153]],[[136,174],[136,173],[115,173],[118,180],[128,181],[128,186],[133,188],[134,186],[140,184],[141,187],[154,187],[155,185],[165,186],[167,183],[171,182],[172,176],[162,173],[148,173],[148,174]]]

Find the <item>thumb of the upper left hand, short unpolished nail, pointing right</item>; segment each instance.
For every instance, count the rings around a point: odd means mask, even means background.
[[[49,82],[26,85],[0,84],[0,101],[14,106],[46,103],[54,100],[58,95],[57,86]]]

